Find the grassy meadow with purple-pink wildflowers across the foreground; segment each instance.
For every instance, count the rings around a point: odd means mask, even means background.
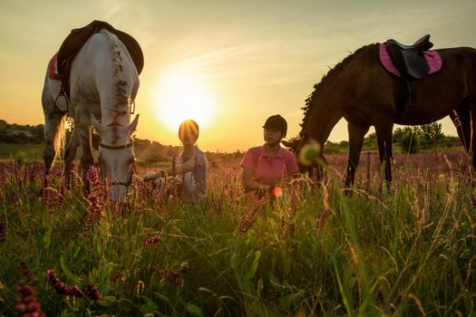
[[[476,195],[461,152],[396,156],[393,184],[363,153],[322,182],[244,194],[239,159],[209,162],[203,201],[141,182],[114,206],[61,166],[0,162],[0,315],[476,314]],[[42,191],[42,187],[45,187]]]

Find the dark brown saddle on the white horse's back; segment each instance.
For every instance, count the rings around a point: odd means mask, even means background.
[[[62,88],[60,96],[63,96],[66,100],[70,97],[69,86],[69,72],[70,65],[73,62],[74,56],[80,52],[92,34],[99,33],[102,29],[115,34],[119,40],[126,46],[128,52],[131,55],[132,62],[140,74],[144,67],[144,56],[141,50],[141,46],[137,41],[129,34],[116,30],[111,24],[103,21],[94,20],[92,23],[87,24],[81,28],[73,29],[71,33],[64,39],[60,50],[56,53],[56,72],[52,79],[62,82]]]

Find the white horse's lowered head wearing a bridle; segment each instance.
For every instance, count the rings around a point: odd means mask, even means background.
[[[102,175],[109,179],[111,197],[114,201],[123,200],[127,188],[131,185],[135,161],[131,134],[137,128],[138,120],[139,115],[129,126],[112,123],[105,127],[91,115],[92,125],[101,136],[99,164]]]

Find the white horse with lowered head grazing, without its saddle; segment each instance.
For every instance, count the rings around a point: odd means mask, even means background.
[[[131,122],[131,104],[139,89],[139,76],[131,55],[115,34],[102,30],[93,34],[74,57],[70,68],[68,115],[74,130],[64,152],[64,178],[69,187],[70,172],[78,146],[83,146],[83,178],[93,165],[91,126],[99,132],[99,163],[102,175],[109,177],[111,197],[124,199],[131,184],[134,150],[131,134],[139,115]],[[44,110],[44,173],[48,175],[54,158],[64,147],[65,113],[55,105],[59,81],[46,72],[42,103]],[[101,118],[101,123],[96,120]]]

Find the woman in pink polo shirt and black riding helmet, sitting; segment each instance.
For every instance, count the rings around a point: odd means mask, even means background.
[[[267,118],[263,128],[265,144],[248,149],[239,165],[247,192],[268,192],[283,178],[298,172],[294,154],[279,145],[286,137],[287,121],[277,114]]]

